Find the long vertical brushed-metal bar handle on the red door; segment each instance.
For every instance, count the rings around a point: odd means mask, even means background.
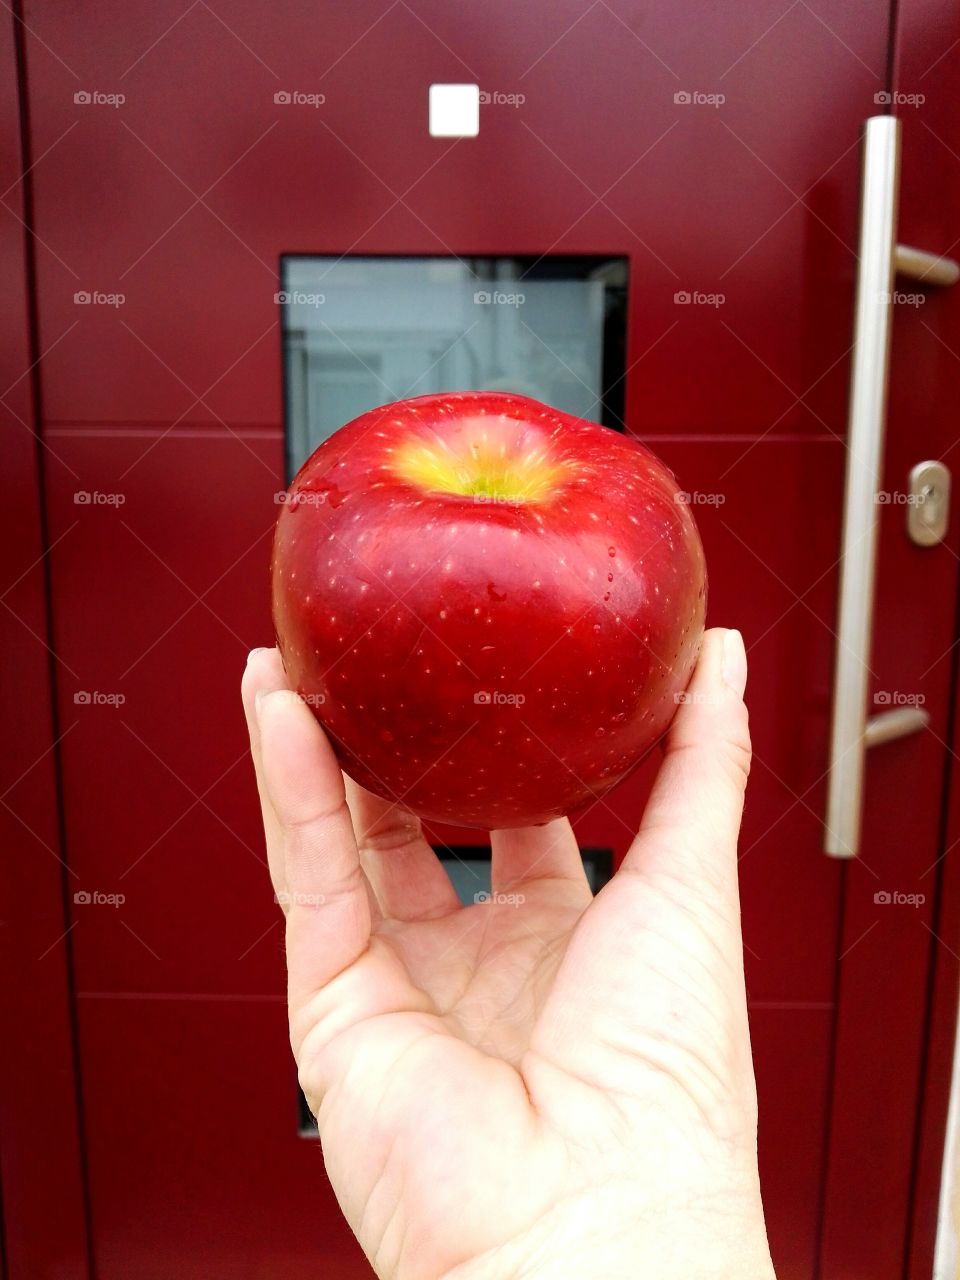
[[[824,852],[855,858],[860,840],[864,756],[868,746],[913,733],[925,712],[895,709],[867,722],[867,687],[877,567],[877,492],[883,465],[893,274],[927,284],[952,284],[960,266],[950,259],[896,243],[900,122],[867,120],[863,141],[860,248],[854,306],[854,355],[841,536],[837,649]],[[896,718],[896,719],[893,719]]]

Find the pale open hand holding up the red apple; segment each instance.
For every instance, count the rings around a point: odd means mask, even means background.
[[[379,1276],[773,1276],[737,893],[745,682],[739,632],[708,631],[595,899],[562,819],[492,832],[493,901],[463,908],[417,819],[344,780],[279,653],[251,654],[291,1042]]]

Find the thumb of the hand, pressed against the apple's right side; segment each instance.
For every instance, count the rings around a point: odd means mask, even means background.
[[[737,910],[737,836],[750,772],[739,631],[704,635],[700,658],[664,744],[664,759],[623,869],[669,877],[691,896]]]

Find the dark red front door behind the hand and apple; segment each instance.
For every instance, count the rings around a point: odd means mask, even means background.
[[[901,238],[948,252],[960,209],[946,106],[960,55],[937,63],[956,12],[900,9],[893,36],[886,0],[28,0],[14,20],[49,552],[27,582],[49,573],[68,867],[63,922],[44,927],[70,984],[68,1123],[86,1161],[63,1181],[81,1224],[86,1188],[100,1280],[369,1274],[300,1133],[237,685],[270,636],[274,494],[303,403],[323,425],[330,403],[406,389],[411,369],[420,390],[438,367],[467,374],[443,365],[435,333],[411,334],[393,372],[376,362],[385,339],[367,349],[346,310],[310,321],[311,366],[310,325],[275,294],[317,259],[321,274],[364,260],[361,283],[384,289],[397,259],[429,260],[438,298],[444,262],[483,261],[490,280],[509,264],[532,297],[554,266],[582,284],[585,261],[623,260],[623,315],[616,266],[598,294],[599,362],[530,320],[530,376],[571,393],[571,378],[600,378],[611,425],[648,440],[696,503],[709,620],[748,640],[745,947],[778,1275],[902,1275],[957,536],[916,547],[897,502],[881,513],[869,696],[922,699],[929,728],[870,756],[860,858],[823,854],[863,120],[905,118]],[[891,79],[897,51],[910,83]],[[477,136],[431,137],[429,86],[465,83],[486,95]],[[957,303],[915,292],[923,303],[896,308],[890,493],[915,462],[950,462],[955,439]],[[649,780],[584,814],[582,844],[621,858]],[[20,785],[8,797],[23,822],[35,803]],[[19,1217],[8,1236],[14,1277],[63,1253]],[[84,1274],[73,1257],[60,1274]]]

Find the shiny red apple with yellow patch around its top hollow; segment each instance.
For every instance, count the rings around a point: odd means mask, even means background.
[[[672,472],[522,396],[362,415],[276,525],[283,663],[344,772],[457,826],[544,823],[626,777],[676,712],[705,603]]]

